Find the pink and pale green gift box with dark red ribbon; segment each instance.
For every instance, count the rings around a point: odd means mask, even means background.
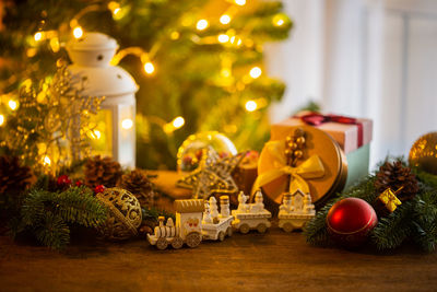
[[[296,116],[272,125],[272,140],[283,138],[290,127],[309,125],[329,133],[339,143],[347,162],[347,178],[344,188],[365,178],[369,170],[373,121],[338,115],[300,112]]]

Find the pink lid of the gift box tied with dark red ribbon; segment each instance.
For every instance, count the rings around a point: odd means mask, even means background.
[[[277,124],[272,125],[271,139],[275,140],[283,137],[287,128],[294,126],[307,125],[303,119],[308,113],[300,113],[295,117],[285,119]],[[320,115],[322,116],[322,115]],[[332,115],[331,115],[332,116]],[[331,117],[322,116],[322,117]],[[340,117],[340,116],[335,116]],[[335,121],[326,121],[320,125],[311,125],[326,132],[328,132],[340,145],[343,152],[347,155],[350,152],[370,143],[373,138],[373,121],[366,118],[346,118],[349,120],[354,120],[354,124],[342,124]],[[329,119],[327,119],[329,120]],[[341,120],[341,119],[338,119]]]

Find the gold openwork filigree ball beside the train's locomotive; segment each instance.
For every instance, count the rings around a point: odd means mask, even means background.
[[[140,202],[132,194],[121,188],[107,188],[96,197],[109,210],[105,224],[101,226],[105,238],[120,241],[138,234],[142,212]]]

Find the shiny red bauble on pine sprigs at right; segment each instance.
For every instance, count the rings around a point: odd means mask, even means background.
[[[355,247],[366,242],[378,224],[374,208],[365,200],[346,198],[334,203],[328,212],[327,225],[332,238],[341,245]]]

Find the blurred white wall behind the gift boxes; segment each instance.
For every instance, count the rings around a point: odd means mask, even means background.
[[[437,130],[437,0],[287,0],[292,37],[268,48],[287,91],[281,120],[309,100],[375,121],[371,163]]]

